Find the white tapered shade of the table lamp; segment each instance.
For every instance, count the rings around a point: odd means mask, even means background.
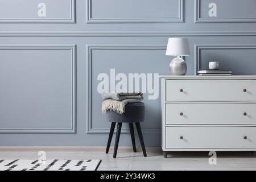
[[[167,56],[189,56],[189,46],[187,38],[169,38],[167,49]]]

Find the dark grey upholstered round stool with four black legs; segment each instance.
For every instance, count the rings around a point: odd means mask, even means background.
[[[114,147],[113,158],[116,158],[116,156],[117,156],[117,148],[118,148],[119,138],[120,138],[120,134],[121,134],[122,123],[129,123],[129,129],[130,129],[130,134],[131,134],[131,143],[133,144],[133,151],[136,152],[135,138],[134,138],[134,127],[133,127],[133,123],[135,123],[136,129],[137,129],[138,135],[139,135],[139,141],[141,142],[143,155],[145,157],[147,156],[146,149],[144,146],[142,131],[141,131],[141,125],[140,125],[140,122],[144,121],[144,113],[145,113],[145,106],[144,106],[143,102],[133,102],[133,103],[126,104],[125,105],[125,113],[123,113],[123,114],[118,114],[112,110],[107,111],[106,115],[108,117],[108,120],[109,120],[109,122],[112,122],[112,123],[111,123],[111,127],[110,127],[110,132],[109,132],[108,144],[106,147],[106,154],[108,154],[108,152],[109,152],[110,143],[111,143],[114,129],[115,129],[115,123],[118,123],[118,124],[117,124],[117,134],[115,136],[115,147]]]

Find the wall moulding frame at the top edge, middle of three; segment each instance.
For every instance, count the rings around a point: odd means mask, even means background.
[[[184,0],[179,1],[179,13],[177,17],[170,18],[93,18],[92,0],[86,0],[86,23],[184,23]]]

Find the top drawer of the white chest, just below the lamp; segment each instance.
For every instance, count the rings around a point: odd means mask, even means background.
[[[256,101],[256,80],[166,80],[166,101]]]

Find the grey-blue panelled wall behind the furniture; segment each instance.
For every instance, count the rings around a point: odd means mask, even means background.
[[[40,2],[46,17],[37,15]],[[208,16],[210,2],[217,17]],[[0,145],[105,146],[110,124],[97,75],[168,74],[168,37],[189,39],[187,75],[210,60],[255,75],[255,7],[254,0],[0,1]],[[160,103],[145,98],[144,140],[159,146]],[[129,135],[120,142],[130,146]]]

